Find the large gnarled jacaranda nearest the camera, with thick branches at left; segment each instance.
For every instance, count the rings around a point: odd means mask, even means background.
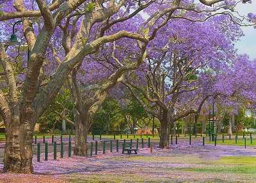
[[[202,13],[203,18],[195,21],[204,21],[223,13],[230,17],[227,21],[235,21],[232,11],[236,1],[200,0],[200,3],[206,6],[195,6],[187,0],[12,0],[1,3],[0,61],[1,81],[4,79],[5,83],[0,90],[0,114],[6,127],[4,171],[33,172],[32,137],[36,121],[70,74],[77,72],[84,58],[99,52],[102,45],[129,38],[136,40],[139,53],[136,62],[118,68],[106,85],[102,85],[96,93],[99,101],[106,96],[106,88],[115,84],[122,74],[140,67],[148,56],[149,42],[170,19],[183,20],[186,19],[184,13]],[[216,3],[218,6],[210,7]],[[141,22],[139,30],[127,31],[124,27],[112,30],[115,24],[142,11],[150,17]],[[17,20],[22,21],[18,26],[20,31],[12,35],[12,42],[7,42]],[[242,24],[241,20],[236,22]],[[14,46],[16,36],[26,44]],[[24,49],[28,49],[28,55]],[[24,61],[27,58],[28,63]],[[97,107],[94,105],[91,110]],[[78,111],[85,116],[83,109]]]

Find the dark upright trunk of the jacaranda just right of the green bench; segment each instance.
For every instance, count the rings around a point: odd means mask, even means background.
[[[163,118],[161,120],[160,127],[160,148],[169,148],[170,139],[170,118],[168,117],[168,112],[163,112]]]

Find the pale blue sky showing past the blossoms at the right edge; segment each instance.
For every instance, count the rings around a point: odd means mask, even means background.
[[[239,4],[237,10],[241,15],[248,13],[256,13],[256,0],[252,0],[252,4]],[[244,35],[239,42],[236,43],[236,48],[239,54],[248,54],[251,59],[256,59],[256,29],[252,27],[243,27]]]

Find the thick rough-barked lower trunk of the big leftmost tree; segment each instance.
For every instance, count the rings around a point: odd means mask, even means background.
[[[33,124],[14,117],[6,123],[4,172],[33,173]]]

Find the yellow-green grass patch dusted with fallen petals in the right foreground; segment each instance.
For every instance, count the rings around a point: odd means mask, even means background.
[[[254,182],[256,157],[227,156],[209,161],[195,155],[113,157],[109,162],[129,164],[124,171],[68,175],[70,182]],[[128,163],[129,162],[129,163]],[[134,164],[134,167],[131,166]],[[143,166],[144,164],[144,166]],[[154,166],[156,164],[156,166]],[[159,166],[161,164],[161,166]]]

